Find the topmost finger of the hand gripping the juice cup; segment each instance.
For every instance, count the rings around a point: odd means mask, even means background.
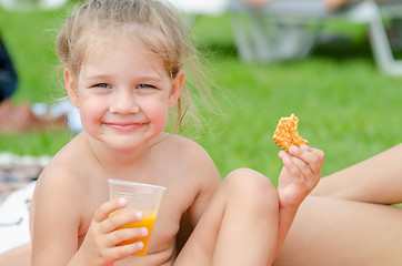
[[[118,229],[119,227],[138,223],[143,219],[142,212],[127,212],[127,211],[117,211],[112,213],[108,219],[103,222],[104,233],[108,234]]]

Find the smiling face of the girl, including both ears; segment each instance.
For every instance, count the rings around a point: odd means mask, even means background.
[[[93,40],[87,51],[77,78],[64,72],[84,131],[118,150],[158,136],[180,95],[183,72],[171,79],[160,57],[124,37]]]

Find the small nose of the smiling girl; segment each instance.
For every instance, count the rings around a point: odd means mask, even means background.
[[[110,112],[121,114],[133,114],[140,111],[135,95],[130,90],[115,90],[113,92]]]

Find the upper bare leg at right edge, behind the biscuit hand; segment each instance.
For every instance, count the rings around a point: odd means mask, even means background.
[[[379,204],[402,203],[402,144],[321,178],[312,195]]]

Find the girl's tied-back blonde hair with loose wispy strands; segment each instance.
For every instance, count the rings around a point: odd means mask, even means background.
[[[198,94],[204,95],[203,100],[213,100],[197,50],[188,37],[188,29],[172,7],[157,0],[91,0],[84,3],[68,18],[57,39],[57,52],[63,68],[78,76],[88,39],[93,32],[108,30],[134,34],[162,58],[165,71],[172,79],[184,63],[189,64],[201,85],[195,86]],[[174,131],[182,129],[182,120],[188,111],[199,122],[187,85],[183,85],[177,104]]]

